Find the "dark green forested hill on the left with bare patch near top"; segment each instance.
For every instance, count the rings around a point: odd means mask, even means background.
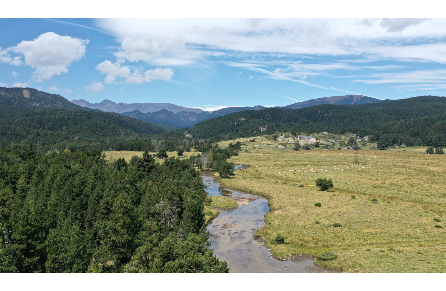
[[[135,139],[166,132],[153,123],[93,111],[31,88],[0,88],[0,102],[1,146],[32,142],[41,150],[124,150]]]

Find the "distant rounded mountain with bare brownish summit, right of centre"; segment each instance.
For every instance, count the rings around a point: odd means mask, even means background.
[[[348,105],[348,104],[368,104],[368,103],[380,103],[389,100],[380,100],[363,95],[345,95],[345,96],[332,96],[332,97],[322,97],[318,99],[311,99],[303,102],[297,102],[291,105],[277,107],[277,108],[304,108],[313,105],[320,104],[333,104],[333,105]]]

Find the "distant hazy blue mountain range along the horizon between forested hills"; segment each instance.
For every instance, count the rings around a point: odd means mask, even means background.
[[[319,104],[333,104],[333,105],[349,105],[349,104],[368,104],[379,103],[388,100],[380,100],[373,97],[363,95],[346,95],[323,97],[318,99],[311,99],[304,102],[298,102],[291,105],[277,108],[293,108],[299,109],[310,107]],[[203,121],[213,117],[223,116],[229,113],[235,113],[246,110],[262,110],[264,106],[254,107],[227,107],[215,111],[204,111],[201,109],[187,108],[170,103],[115,103],[108,99],[99,103],[89,103],[83,99],[71,100],[72,103],[88,107],[92,109],[99,109],[102,111],[116,112],[122,115],[136,118],[146,122],[153,122],[155,124],[172,125],[178,128],[193,127],[197,122]],[[125,110],[128,109],[128,110]]]

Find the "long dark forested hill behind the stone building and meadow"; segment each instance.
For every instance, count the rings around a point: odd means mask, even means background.
[[[193,137],[224,140],[281,131],[301,133],[359,131],[388,143],[446,145],[446,97],[421,96],[360,105],[314,105],[302,109],[268,108],[201,121]]]

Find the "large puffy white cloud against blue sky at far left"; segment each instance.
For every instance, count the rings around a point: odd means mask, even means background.
[[[11,50],[25,56],[25,64],[36,69],[33,78],[41,82],[67,73],[70,64],[84,56],[88,42],[89,40],[46,32],[34,40],[23,40]]]

